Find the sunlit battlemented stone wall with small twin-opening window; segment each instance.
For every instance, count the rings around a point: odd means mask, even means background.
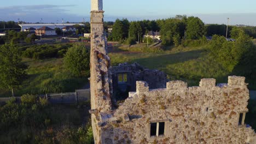
[[[248,112],[245,77],[230,76],[228,86],[202,79],[199,87],[183,81],[149,90],[137,82],[136,92],[102,125],[102,143],[248,143],[254,131],[240,113]],[[245,116],[245,115],[244,115]],[[115,121],[117,120],[117,121]],[[164,122],[164,135],[150,136],[152,123]]]

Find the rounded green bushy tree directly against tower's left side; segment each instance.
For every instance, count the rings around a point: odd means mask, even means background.
[[[89,76],[90,52],[84,45],[73,45],[64,56],[64,64],[74,76]]]

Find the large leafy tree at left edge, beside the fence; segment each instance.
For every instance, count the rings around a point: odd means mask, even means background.
[[[13,96],[14,89],[20,87],[27,77],[27,65],[21,61],[18,47],[14,44],[0,46],[0,87],[10,89]]]

